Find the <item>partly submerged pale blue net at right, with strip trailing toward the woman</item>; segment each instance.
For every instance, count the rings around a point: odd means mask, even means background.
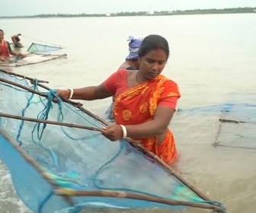
[[[180,113],[214,116],[214,146],[256,149],[256,94],[229,94],[226,103],[180,109]]]

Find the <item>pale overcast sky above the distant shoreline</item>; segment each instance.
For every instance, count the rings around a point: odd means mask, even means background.
[[[256,0],[0,0],[0,16],[256,7]]]

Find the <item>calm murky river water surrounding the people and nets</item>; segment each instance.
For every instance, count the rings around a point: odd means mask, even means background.
[[[255,103],[255,14],[1,19],[1,28],[7,40],[11,40],[14,33],[22,33],[24,53],[32,42],[62,46],[56,53],[66,53],[67,59],[12,69],[48,80],[49,86],[55,88],[100,84],[125,59],[126,39],[130,35],[146,37],[157,33],[165,37],[171,56],[163,74],[179,84],[182,95],[178,103],[181,111],[175,113],[170,124],[180,154],[178,169],[210,199],[222,202],[228,212],[255,212],[256,150],[214,148],[221,113],[182,111],[230,101]],[[82,103],[86,109],[104,116],[110,99]],[[228,130],[232,128],[227,126]],[[255,135],[253,131],[250,134],[253,145]],[[224,145],[226,142],[229,145],[230,141],[232,138],[226,138]],[[246,147],[246,144],[241,145]],[[1,163],[0,212],[29,212],[16,196],[8,169]],[[96,209],[90,212],[145,210]],[[170,211],[148,209],[146,212]],[[188,208],[182,212],[207,211]]]

